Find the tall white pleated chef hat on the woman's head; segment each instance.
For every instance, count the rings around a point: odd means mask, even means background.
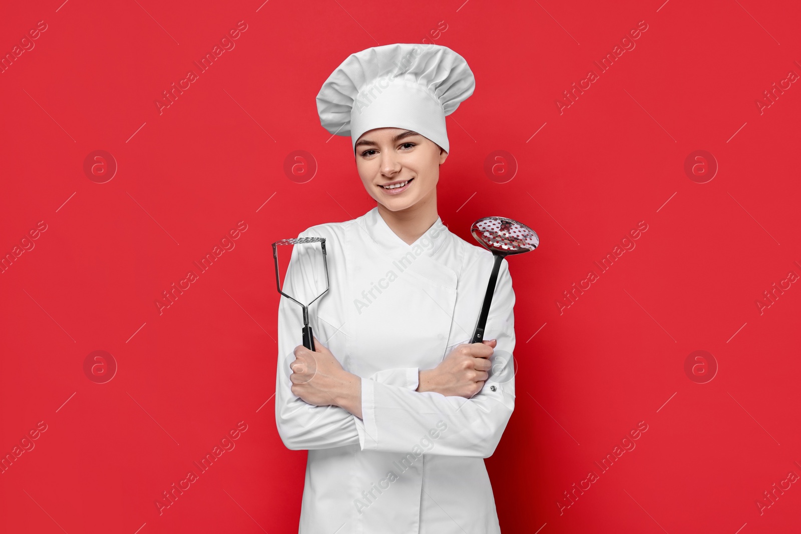
[[[473,94],[465,58],[447,46],[396,43],[351,54],[317,94],[320,124],[356,141],[373,128],[416,131],[450,151],[445,115]]]

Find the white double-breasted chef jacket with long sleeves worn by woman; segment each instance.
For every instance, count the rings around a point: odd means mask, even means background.
[[[309,308],[314,335],[361,377],[362,419],[292,394],[289,364],[302,309],[278,319],[276,425],[308,449],[300,534],[501,532],[484,459],[514,408],[514,292],[504,259],[484,339],[497,339],[489,379],[471,399],[415,391],[458,343],[469,343],[493,255],[441,219],[409,245],[373,208],[308,228],[324,237],[330,289]],[[308,303],[325,289],[320,243],[293,247],[284,292]]]

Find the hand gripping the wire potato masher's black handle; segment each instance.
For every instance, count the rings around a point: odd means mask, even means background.
[[[328,347],[317,338],[314,338],[314,347],[313,352],[303,345],[295,347],[295,360],[289,364],[292,394],[314,406],[332,404],[348,409],[355,400],[353,396],[356,393],[361,396],[360,378],[345,371]]]

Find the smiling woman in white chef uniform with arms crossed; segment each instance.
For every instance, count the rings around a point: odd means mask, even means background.
[[[473,93],[445,46],[398,43],[352,54],[317,105],[351,135],[376,207],[299,237],[324,237],[330,290],[309,310],[280,300],[276,424],[308,449],[300,533],[500,532],[484,465],[514,408],[514,293],[504,261],[484,343],[469,343],[493,256],[437,215],[445,115]],[[296,245],[284,291],[325,287],[319,244]]]

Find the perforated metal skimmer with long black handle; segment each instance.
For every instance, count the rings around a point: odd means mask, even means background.
[[[522,254],[535,250],[540,244],[537,232],[518,223],[514,219],[505,217],[484,217],[478,219],[470,227],[470,233],[476,238],[482,247],[493,253],[493,270],[489,275],[487,291],[484,294],[484,303],[481,305],[481,313],[478,315],[476,329],[473,331],[473,338],[470,343],[481,343],[484,339],[484,329],[489,317],[489,306],[493,302],[495,283],[498,279],[498,271],[501,270],[501,260],[505,256]]]

